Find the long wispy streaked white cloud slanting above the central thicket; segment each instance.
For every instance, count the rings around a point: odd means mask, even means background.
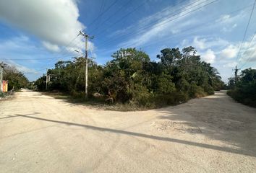
[[[188,6],[187,4],[191,4]],[[149,17],[141,19],[136,25],[133,25],[137,36],[132,37],[128,41],[119,44],[120,47],[137,47],[140,45],[145,45],[149,43],[152,39],[159,39],[160,37],[166,37],[170,35],[175,35],[176,33],[181,32],[191,25],[196,25],[197,22],[200,22],[196,18],[192,18],[192,15],[197,13],[191,13],[202,7],[205,3],[202,1],[191,0],[184,6],[168,6],[161,12],[157,12]],[[200,10],[197,10],[200,12]],[[148,26],[152,27],[148,27]],[[127,27],[131,29],[131,26]],[[130,31],[130,30],[129,30]],[[123,33],[124,30],[117,31],[116,33]]]

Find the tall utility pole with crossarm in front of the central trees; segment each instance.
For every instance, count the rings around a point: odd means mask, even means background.
[[[80,31],[78,35],[85,37],[85,98],[88,97],[88,39],[93,39],[93,36]]]

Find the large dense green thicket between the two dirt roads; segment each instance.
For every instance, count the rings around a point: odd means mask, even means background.
[[[216,68],[197,56],[195,48],[166,48],[158,62],[135,48],[113,53],[105,66],[89,61],[88,92],[111,102],[158,107],[203,97],[221,89],[223,81]],[[85,59],[59,61],[51,74],[50,90],[69,92],[81,97],[85,88]],[[46,76],[35,81],[38,89],[46,88]]]

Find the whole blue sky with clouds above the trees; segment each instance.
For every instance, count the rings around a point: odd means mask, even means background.
[[[85,52],[104,65],[119,48],[152,61],[163,48],[194,46],[223,81],[256,68],[255,0],[0,0],[0,62],[30,81]],[[248,25],[249,24],[249,25]],[[78,35],[78,36],[77,36]],[[89,72],[90,73],[90,72]]]

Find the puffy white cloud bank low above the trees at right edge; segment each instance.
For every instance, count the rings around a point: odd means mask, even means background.
[[[240,44],[240,42],[231,43],[220,38],[209,37],[194,37],[192,42],[189,42],[189,40],[182,40],[182,43],[180,43],[182,47],[192,45],[199,50],[199,53],[197,54],[201,55],[202,61],[215,63],[216,58],[218,58],[217,64],[222,63],[223,65],[221,65],[221,67],[224,68],[231,68],[236,65],[239,66],[239,63],[234,62],[234,58],[237,56],[239,56],[239,61],[242,64],[246,62],[256,62],[256,35],[253,39],[251,38],[244,42],[241,52],[239,53]]]

